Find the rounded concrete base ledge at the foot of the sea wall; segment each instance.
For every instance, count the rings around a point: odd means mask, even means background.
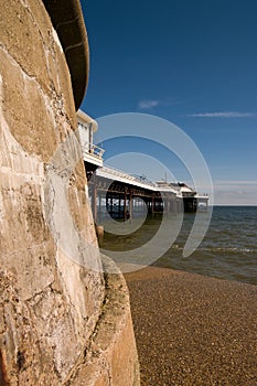
[[[103,256],[105,269],[117,271]],[[139,364],[129,305],[129,292],[121,274],[105,275],[106,294],[96,329],[78,366],[73,385],[139,386]]]

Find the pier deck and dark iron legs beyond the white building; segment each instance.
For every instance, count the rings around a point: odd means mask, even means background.
[[[207,196],[193,190],[183,194],[184,184],[154,183],[120,170],[103,167],[88,172],[88,194],[95,222],[110,216],[127,221],[143,213],[195,212],[197,205],[207,206]]]

